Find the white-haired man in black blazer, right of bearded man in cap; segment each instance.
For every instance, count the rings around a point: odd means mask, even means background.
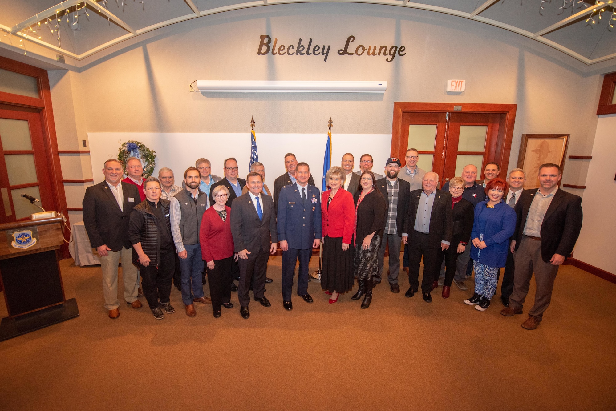
[[[408,283],[406,297],[413,297],[419,288],[419,263],[424,259],[421,293],[427,303],[432,302],[436,252],[449,248],[452,240],[452,195],[437,189],[439,175],[427,172],[421,190],[411,191],[404,232],[408,237]]]

